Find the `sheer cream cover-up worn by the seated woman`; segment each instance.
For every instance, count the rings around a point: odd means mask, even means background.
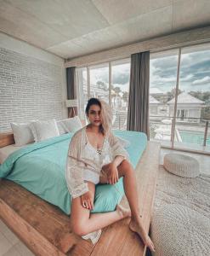
[[[110,163],[117,155],[129,160],[128,152],[112,132],[109,137],[105,137],[99,151],[88,142],[86,126],[77,131],[71,138],[65,168],[65,179],[72,198],[88,192],[85,180],[99,183],[102,166]]]

